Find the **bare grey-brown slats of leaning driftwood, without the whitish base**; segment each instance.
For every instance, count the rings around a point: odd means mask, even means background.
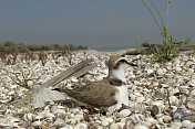
[[[79,76],[88,73],[90,69],[92,69],[96,66],[96,64],[94,64],[94,63],[89,65],[89,63],[91,63],[91,62],[92,62],[92,60],[85,60],[85,61],[76,64],[75,66],[71,67],[70,69],[62,72],[60,75],[45,82],[44,84],[41,85],[41,87],[54,86],[54,85],[59,84],[60,82],[62,82],[66,78],[70,78],[72,76],[78,78]]]

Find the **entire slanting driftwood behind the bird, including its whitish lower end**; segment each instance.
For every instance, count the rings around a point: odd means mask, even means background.
[[[18,99],[14,105],[19,108],[41,108],[44,107],[49,101],[58,101],[65,99],[63,93],[52,90],[48,87],[54,86],[63,79],[68,79],[72,76],[80,77],[86,74],[90,69],[96,66],[95,63],[90,64],[92,60],[83,61],[76,64],[75,66],[69,68],[68,71],[62,72],[60,75],[45,82],[41,86],[32,88],[22,99]]]

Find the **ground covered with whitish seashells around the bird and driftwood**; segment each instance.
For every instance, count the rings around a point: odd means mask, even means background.
[[[138,67],[126,69],[130,107],[102,115],[88,109],[50,103],[43,108],[17,108],[14,100],[29,89],[19,86],[23,79],[33,87],[47,82],[85,58],[98,67],[80,78],[59,84],[71,88],[107,76],[105,62],[113,53],[75,52],[71,57],[22,60],[13,65],[0,62],[0,128],[2,129],[194,129],[195,128],[195,55],[181,53],[166,63],[155,63],[152,55],[127,55]],[[16,80],[16,82],[14,82]]]

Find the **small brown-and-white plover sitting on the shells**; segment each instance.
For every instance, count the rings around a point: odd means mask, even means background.
[[[106,108],[109,111],[120,109],[122,104],[129,105],[124,74],[129,65],[136,66],[122,55],[113,55],[107,62],[109,76],[105,79],[75,89],[63,89],[63,92],[80,106]]]

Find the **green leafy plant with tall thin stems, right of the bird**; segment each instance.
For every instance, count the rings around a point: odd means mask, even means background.
[[[171,0],[167,0],[166,26],[164,25],[163,18],[161,17],[161,14],[160,14],[157,8],[155,7],[155,4],[153,3],[153,1],[150,0],[150,3],[154,8],[154,10],[156,11],[156,13],[161,20],[161,24],[157,21],[156,17],[154,15],[152,9],[144,2],[144,0],[141,0],[141,1],[144,4],[144,7],[146,7],[148,12],[151,13],[153,21],[161,30],[161,35],[163,36],[163,43],[161,45],[156,45],[156,46],[151,45],[148,41],[145,41],[143,44],[147,44],[147,46],[150,46],[151,52],[154,54],[153,58],[155,61],[157,61],[157,62],[171,61],[173,57],[178,55],[179,47],[192,42],[192,39],[188,37],[184,41],[177,41],[176,39],[174,39],[172,35],[168,34],[168,12],[170,12],[168,9],[170,9]]]

